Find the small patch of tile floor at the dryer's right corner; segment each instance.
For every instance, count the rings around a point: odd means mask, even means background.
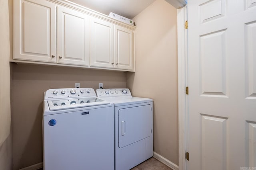
[[[158,161],[156,158],[149,158],[148,160],[138,164],[131,170],[172,170],[162,162]]]

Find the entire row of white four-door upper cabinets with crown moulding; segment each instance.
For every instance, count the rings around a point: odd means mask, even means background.
[[[14,0],[16,63],[135,71],[135,26],[63,0]]]

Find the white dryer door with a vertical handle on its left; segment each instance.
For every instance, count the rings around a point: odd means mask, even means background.
[[[150,105],[119,109],[119,148],[149,137],[152,134],[151,117]]]

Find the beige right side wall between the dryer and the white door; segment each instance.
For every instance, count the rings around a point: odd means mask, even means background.
[[[178,165],[177,12],[156,0],[136,23],[136,72],[127,73],[133,96],[153,98],[154,152]]]

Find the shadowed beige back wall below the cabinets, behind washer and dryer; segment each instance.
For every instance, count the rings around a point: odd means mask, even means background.
[[[50,88],[125,88],[126,73],[12,63],[13,169],[42,162],[42,101]]]

